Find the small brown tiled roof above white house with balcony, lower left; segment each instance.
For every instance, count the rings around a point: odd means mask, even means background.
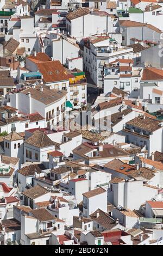
[[[55,217],[44,208],[32,210],[30,213],[41,222],[55,220]]]

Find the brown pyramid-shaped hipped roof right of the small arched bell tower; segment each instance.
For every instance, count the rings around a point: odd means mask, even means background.
[[[53,141],[51,141],[45,132],[40,130],[36,130],[32,136],[26,139],[25,142],[35,146],[36,148],[46,148],[55,144]]]

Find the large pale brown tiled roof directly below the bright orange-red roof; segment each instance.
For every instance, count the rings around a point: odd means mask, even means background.
[[[42,85],[42,88],[43,88],[42,92],[40,88],[41,86],[36,86],[35,88],[29,87],[23,90],[21,93],[27,95],[29,92],[33,99],[40,101],[45,105],[49,105],[55,101],[58,101],[67,94],[65,90],[60,91],[60,90],[50,89],[48,86]]]

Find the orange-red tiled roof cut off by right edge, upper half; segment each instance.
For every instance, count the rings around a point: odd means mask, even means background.
[[[156,68],[145,68],[143,69],[142,81],[145,80],[163,80],[163,70]]]

